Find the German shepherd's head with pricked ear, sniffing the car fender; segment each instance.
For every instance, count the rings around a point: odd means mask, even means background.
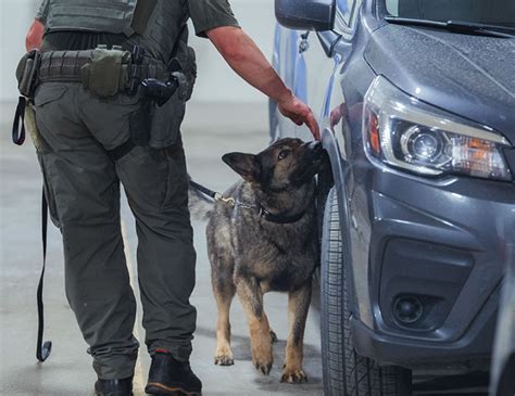
[[[265,191],[285,191],[311,182],[321,170],[325,151],[317,141],[280,139],[261,153],[229,153],[222,159],[244,180]]]

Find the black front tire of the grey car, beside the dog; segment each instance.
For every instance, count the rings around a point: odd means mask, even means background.
[[[347,222],[347,221],[346,221]],[[322,238],[321,324],[324,394],[326,396],[404,396],[411,395],[411,371],[385,367],[360,356],[350,329],[351,290],[343,263],[342,241],[336,188],[325,205]]]

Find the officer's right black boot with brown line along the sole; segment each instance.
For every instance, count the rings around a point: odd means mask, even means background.
[[[200,396],[202,383],[193,374],[189,363],[177,361],[168,352],[158,349],[152,357],[145,392],[151,395]]]

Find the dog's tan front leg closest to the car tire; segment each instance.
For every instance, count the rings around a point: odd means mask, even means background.
[[[286,343],[286,362],[281,382],[304,382],[307,375],[302,370],[304,354],[304,329],[311,303],[311,280],[288,295],[289,333]]]

